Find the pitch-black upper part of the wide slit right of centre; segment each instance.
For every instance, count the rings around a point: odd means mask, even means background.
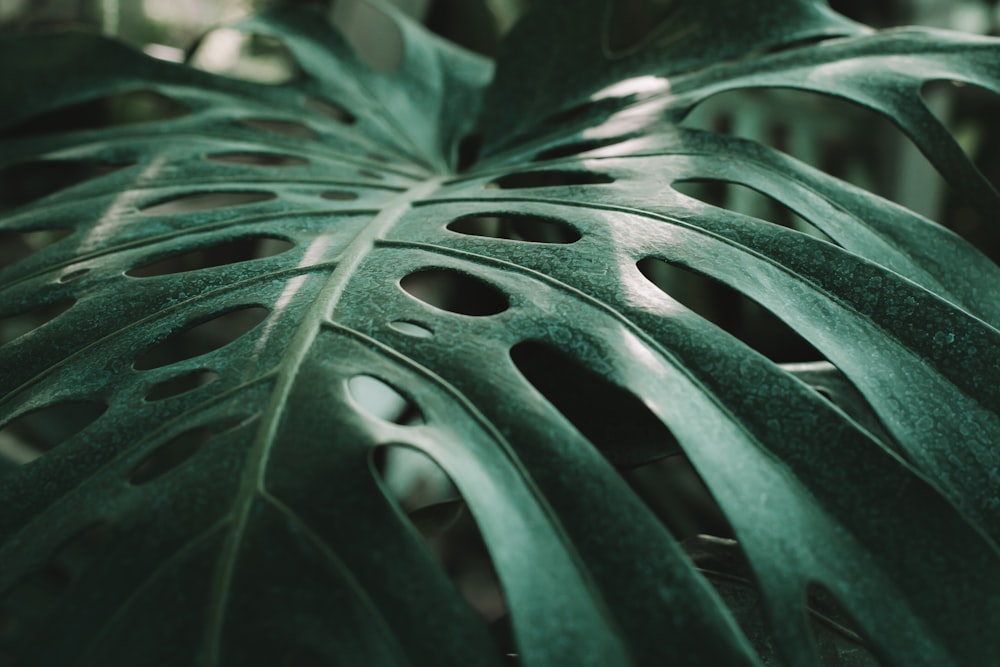
[[[632,468],[680,451],[670,429],[629,390],[538,341],[510,351],[517,369],[615,466]]]

